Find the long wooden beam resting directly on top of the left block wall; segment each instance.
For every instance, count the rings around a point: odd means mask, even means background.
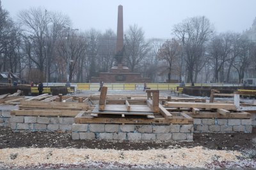
[[[42,111],[42,110],[13,110],[15,116],[68,116],[75,117],[79,111]]]

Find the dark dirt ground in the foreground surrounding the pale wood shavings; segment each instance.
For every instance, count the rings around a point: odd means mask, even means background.
[[[42,150],[46,150],[47,148],[51,149],[59,149],[61,148],[71,148],[71,149],[92,149],[95,151],[102,150],[102,152],[108,152],[108,150],[121,151],[121,153],[125,151],[154,151],[154,150],[175,150],[174,153],[179,151],[179,148],[182,150],[189,150],[189,148],[201,147],[201,150],[210,150],[210,152],[215,151],[239,151],[243,156],[236,156],[237,162],[223,161],[218,160],[220,156],[216,156],[214,154],[213,160],[209,163],[204,163],[203,168],[256,168],[256,128],[253,128],[252,134],[242,134],[242,133],[232,133],[232,134],[216,134],[216,133],[195,133],[193,142],[129,142],[129,141],[100,141],[100,140],[79,140],[74,141],[71,139],[70,132],[26,132],[19,131],[13,132],[10,128],[0,127],[0,160],[1,160],[1,150],[11,150],[14,152],[10,154],[10,159],[15,159],[18,155],[15,150],[19,150],[19,148],[29,149],[29,148],[41,148]],[[196,148],[197,150],[197,148]],[[112,151],[111,151],[112,152]],[[87,152],[86,152],[87,153]],[[186,153],[186,151],[182,154]],[[19,153],[21,154],[21,153]],[[44,155],[43,153],[40,153]],[[51,151],[47,153],[47,159],[49,157]],[[55,154],[55,153],[54,153]],[[88,153],[89,154],[89,153]],[[100,152],[101,154],[101,152]],[[142,154],[142,153],[141,153]],[[188,151],[189,154],[189,151]],[[192,154],[192,153],[191,153]],[[204,153],[207,154],[207,153]],[[203,157],[204,157],[203,154]],[[227,153],[223,154],[225,156]],[[14,155],[14,156],[13,156]],[[221,154],[220,154],[221,155]],[[72,155],[71,157],[73,157]],[[215,159],[215,156],[217,159]],[[14,158],[13,158],[14,157]],[[45,156],[44,156],[45,157]],[[86,156],[87,157],[87,156]],[[167,155],[157,155],[158,157],[162,157],[163,159],[167,157]],[[196,155],[195,155],[196,157]],[[201,157],[201,156],[200,156]],[[181,157],[184,158],[183,155]],[[46,158],[45,158],[46,159]],[[62,159],[62,158],[61,158]],[[2,160],[3,161],[3,160]],[[114,161],[114,160],[113,160]],[[186,158],[184,158],[186,161]],[[189,161],[189,160],[188,160]],[[12,160],[11,160],[12,162]],[[148,160],[148,162],[152,162],[152,160]],[[157,162],[157,160],[153,160],[153,162]],[[154,164],[154,165],[138,165],[136,162],[134,164],[122,164],[120,162],[112,162],[109,161],[100,161],[100,162],[90,162],[86,164],[29,164],[22,166],[15,166],[14,164],[5,164],[6,162],[0,161],[0,169],[1,168],[104,168],[104,169],[137,169],[137,168],[166,168],[166,164]],[[191,167],[191,165],[180,166],[179,164],[169,164],[168,169],[172,168],[184,168]],[[196,166],[192,167],[202,167],[196,164]]]

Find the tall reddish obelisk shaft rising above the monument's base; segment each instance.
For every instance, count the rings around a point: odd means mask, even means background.
[[[123,27],[123,6],[118,6],[117,32],[116,32],[116,54],[124,47],[124,27]]]

